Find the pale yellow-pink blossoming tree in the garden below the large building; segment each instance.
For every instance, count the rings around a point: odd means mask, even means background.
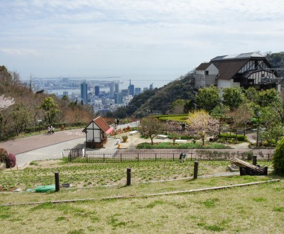
[[[203,110],[190,112],[187,123],[189,128],[202,139],[203,145],[207,136],[216,136],[219,132],[219,121]]]

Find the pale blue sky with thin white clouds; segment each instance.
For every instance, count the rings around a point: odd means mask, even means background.
[[[283,0],[0,0],[0,65],[160,85],[219,55],[284,51]]]

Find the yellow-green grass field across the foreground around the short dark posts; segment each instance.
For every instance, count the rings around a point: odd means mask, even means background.
[[[228,162],[202,162],[199,174],[224,173],[226,165]],[[127,167],[133,171],[131,186],[125,186]],[[267,181],[270,178],[283,179],[272,174],[260,177],[238,175],[178,179],[192,175],[191,162],[99,165],[70,165],[62,162],[59,165],[46,165],[38,162],[27,172],[15,170],[0,173],[1,179],[3,176],[6,179],[16,177],[15,183],[22,179],[19,185],[28,187],[26,184],[34,183],[30,181],[32,177],[48,177],[55,170],[60,172],[60,182],[63,174],[68,174],[66,178],[76,174],[76,188],[60,189],[50,194],[0,193],[1,204],[44,202],[0,206],[0,233],[284,233],[282,180],[216,191],[149,196],[162,192]],[[92,174],[92,177],[87,177],[87,174]],[[97,177],[104,178],[102,184],[108,186],[93,183]],[[111,177],[117,177],[116,182]],[[83,182],[86,178],[87,182]],[[158,179],[177,180],[157,182]],[[88,182],[92,182],[89,184],[91,186],[84,186]],[[106,199],[112,196],[124,198]],[[92,201],[50,202],[70,199]]]

